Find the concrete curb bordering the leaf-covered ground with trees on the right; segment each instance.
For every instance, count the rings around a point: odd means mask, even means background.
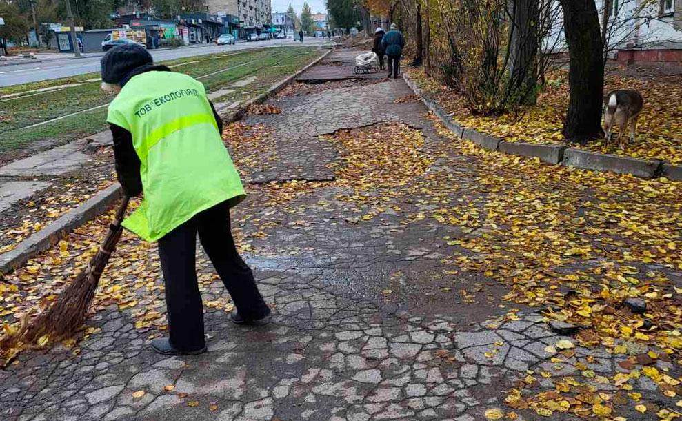
[[[485,135],[471,128],[462,128],[441,106],[421,92],[417,84],[405,73],[403,73],[403,80],[416,95],[419,95],[426,108],[431,110],[445,127],[458,137],[473,141],[482,148],[499,150],[499,152],[510,155],[521,155],[530,158],[537,157],[548,164],[574,166],[583,170],[612,171],[613,173],[631,174],[642,178],[666,177],[671,180],[682,181],[682,166],[667,164],[663,161],[645,161],[643,159],[607,155],[568,148],[562,145],[508,142],[498,137]]]

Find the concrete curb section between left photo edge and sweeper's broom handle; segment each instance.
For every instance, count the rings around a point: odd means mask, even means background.
[[[23,240],[14,250],[0,255],[0,274],[14,271],[34,255],[46,251],[66,233],[106,212],[110,204],[119,197],[121,187],[116,183],[90,197],[77,208],[69,210],[41,231]]]

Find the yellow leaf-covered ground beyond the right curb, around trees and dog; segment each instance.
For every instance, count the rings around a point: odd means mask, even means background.
[[[426,77],[423,70],[407,70],[411,78],[428,95],[434,97],[461,126],[481,133],[503,138],[505,141],[522,141],[534,144],[561,144],[563,117],[568,109],[568,71],[554,70],[547,76],[547,84],[539,92],[537,104],[518,114],[486,117],[473,115],[463,97],[448,89],[436,79]],[[633,88],[644,97],[644,109],[639,118],[634,142],[625,133],[623,150],[612,142],[606,148],[601,139],[594,140],[586,150],[640,159],[661,159],[676,164],[682,162],[682,104],[676,100],[682,95],[682,76],[637,78],[607,72],[605,93],[614,89]],[[618,135],[614,133],[614,139]]]

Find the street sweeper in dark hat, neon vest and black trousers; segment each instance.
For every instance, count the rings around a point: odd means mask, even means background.
[[[107,115],[117,177],[126,195],[144,193],[123,226],[159,242],[170,336],[153,340],[152,348],[166,355],[206,350],[197,233],[232,296],[232,321],[264,322],[270,308],[230,231],[230,208],[245,198],[244,188],[203,84],[154,65],[134,44],[108,51],[101,74],[103,89],[117,93]]]

